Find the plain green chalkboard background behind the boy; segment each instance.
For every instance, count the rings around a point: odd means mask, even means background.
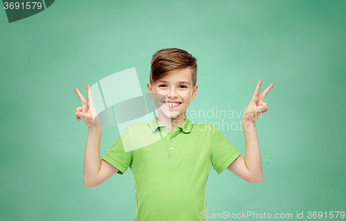
[[[346,211],[346,1],[46,4],[13,22],[0,9],[0,220],[134,220],[131,170],[84,186],[88,128],[75,117],[74,89],[86,97],[87,84],[135,68],[147,94],[152,55],[172,47],[197,58],[190,120],[232,125],[220,130],[243,156],[242,113],[260,79],[261,93],[275,85],[256,121],[262,182],[210,170],[210,216],[343,220],[336,211]],[[234,117],[192,115],[222,110]],[[118,136],[116,125],[102,128],[100,157]]]

